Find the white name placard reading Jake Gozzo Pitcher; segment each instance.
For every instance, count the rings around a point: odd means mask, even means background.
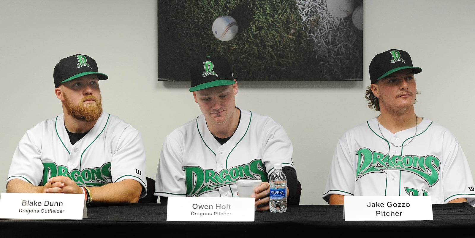
[[[344,196],[344,220],[434,220],[430,196]]]

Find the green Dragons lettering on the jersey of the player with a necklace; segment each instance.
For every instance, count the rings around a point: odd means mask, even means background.
[[[358,155],[358,167],[356,168],[356,180],[370,173],[386,173],[386,170],[401,170],[414,173],[423,178],[429,187],[439,180],[440,160],[432,155],[393,155],[371,151],[361,148],[356,151]]]

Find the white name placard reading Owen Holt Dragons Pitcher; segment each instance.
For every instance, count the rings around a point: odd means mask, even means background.
[[[168,197],[167,221],[254,221],[252,197]]]

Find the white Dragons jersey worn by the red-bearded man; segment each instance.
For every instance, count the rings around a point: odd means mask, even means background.
[[[140,133],[122,119],[103,113],[74,145],[63,114],[29,129],[13,154],[7,183],[19,178],[45,185],[54,176],[68,176],[79,186],[102,186],[124,179],[146,188],[145,150]],[[140,197],[147,194],[143,189]]]

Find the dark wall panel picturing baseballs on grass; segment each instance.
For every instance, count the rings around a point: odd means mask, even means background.
[[[363,78],[362,0],[158,0],[158,80],[224,56],[239,81]]]

